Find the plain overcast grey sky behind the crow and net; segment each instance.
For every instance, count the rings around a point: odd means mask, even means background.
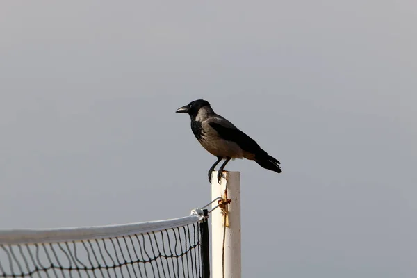
[[[195,99],[281,161],[241,172],[244,277],[416,277],[415,1],[4,1],[1,229],[211,199]]]

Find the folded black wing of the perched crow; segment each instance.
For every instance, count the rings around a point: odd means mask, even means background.
[[[236,126],[231,124],[229,121],[211,121],[208,122],[208,124],[219,134],[221,138],[235,142],[245,152],[256,154],[256,152],[259,151],[260,147],[258,143],[247,136],[243,131],[237,129]]]

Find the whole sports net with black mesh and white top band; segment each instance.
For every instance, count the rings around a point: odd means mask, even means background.
[[[49,230],[0,231],[0,277],[208,277],[207,213]]]

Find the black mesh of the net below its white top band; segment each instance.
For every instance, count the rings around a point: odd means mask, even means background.
[[[0,242],[0,277],[208,277],[207,252],[206,220],[115,238]]]

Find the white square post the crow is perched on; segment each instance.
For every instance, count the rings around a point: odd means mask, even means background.
[[[212,173],[211,198],[222,197],[223,201],[230,199],[224,209],[217,208],[211,215],[211,258],[213,278],[240,278],[241,247],[240,247],[240,172],[224,171],[226,179],[221,184],[217,180],[217,172]],[[227,188],[227,196],[224,190]],[[212,204],[212,208],[218,202]],[[224,234],[224,215],[227,212],[226,233]],[[224,235],[224,238],[223,238]],[[224,276],[223,276],[223,239],[224,239]]]

